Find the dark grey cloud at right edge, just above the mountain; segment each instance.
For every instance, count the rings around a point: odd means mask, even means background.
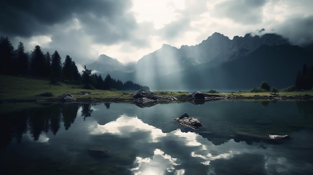
[[[292,44],[305,45],[313,42],[313,16],[293,17],[274,27],[275,33],[289,39]]]

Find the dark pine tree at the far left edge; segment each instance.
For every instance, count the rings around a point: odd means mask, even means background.
[[[0,74],[13,73],[14,47],[8,37],[0,37]]]

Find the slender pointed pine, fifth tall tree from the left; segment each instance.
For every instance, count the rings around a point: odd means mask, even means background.
[[[54,84],[60,80],[61,71],[62,71],[61,57],[55,50],[54,53],[52,54],[50,83]]]

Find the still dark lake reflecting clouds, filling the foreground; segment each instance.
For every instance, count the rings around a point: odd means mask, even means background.
[[[0,174],[313,174],[312,107],[312,101],[37,105],[1,114]],[[203,127],[173,121],[184,113]],[[272,141],[267,134],[290,137]]]

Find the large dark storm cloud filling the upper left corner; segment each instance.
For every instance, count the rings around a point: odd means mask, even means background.
[[[1,0],[0,6],[0,34],[9,36],[50,34],[54,25],[77,18],[95,41],[113,43],[135,27],[130,0]]]

